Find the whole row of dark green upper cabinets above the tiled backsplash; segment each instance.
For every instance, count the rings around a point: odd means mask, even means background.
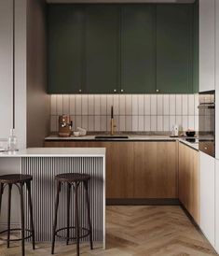
[[[48,93],[80,92],[198,92],[198,0],[48,5]]]

